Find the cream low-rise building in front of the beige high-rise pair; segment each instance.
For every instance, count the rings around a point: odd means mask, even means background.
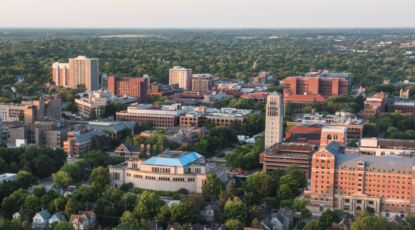
[[[130,105],[136,103],[137,98],[130,96],[116,97],[107,90],[98,90],[89,94],[88,97],[75,99],[75,103],[78,105],[78,112],[84,117],[89,117],[92,110],[95,110],[96,116],[100,117],[102,108],[112,101]]]

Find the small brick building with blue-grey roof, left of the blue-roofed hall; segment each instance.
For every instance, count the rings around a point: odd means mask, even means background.
[[[80,132],[69,132],[68,139],[63,142],[63,150],[70,157],[79,157],[82,152],[89,151],[93,148],[94,143],[92,138],[94,136],[108,136],[108,134],[101,131],[92,131],[83,134]]]

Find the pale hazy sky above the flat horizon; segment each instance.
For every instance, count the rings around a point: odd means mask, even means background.
[[[415,27],[415,0],[0,0],[0,27]]]

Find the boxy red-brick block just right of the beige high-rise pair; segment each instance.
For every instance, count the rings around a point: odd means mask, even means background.
[[[136,97],[137,102],[147,102],[148,84],[147,78],[140,77],[108,77],[108,91],[115,96]]]

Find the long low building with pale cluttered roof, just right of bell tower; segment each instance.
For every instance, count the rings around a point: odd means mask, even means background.
[[[365,125],[368,121],[358,119],[354,114],[337,112],[335,115],[323,115],[319,113],[301,114],[293,120],[287,121],[287,126],[300,124],[321,124],[324,126],[338,126],[347,128],[347,139],[362,139]]]

